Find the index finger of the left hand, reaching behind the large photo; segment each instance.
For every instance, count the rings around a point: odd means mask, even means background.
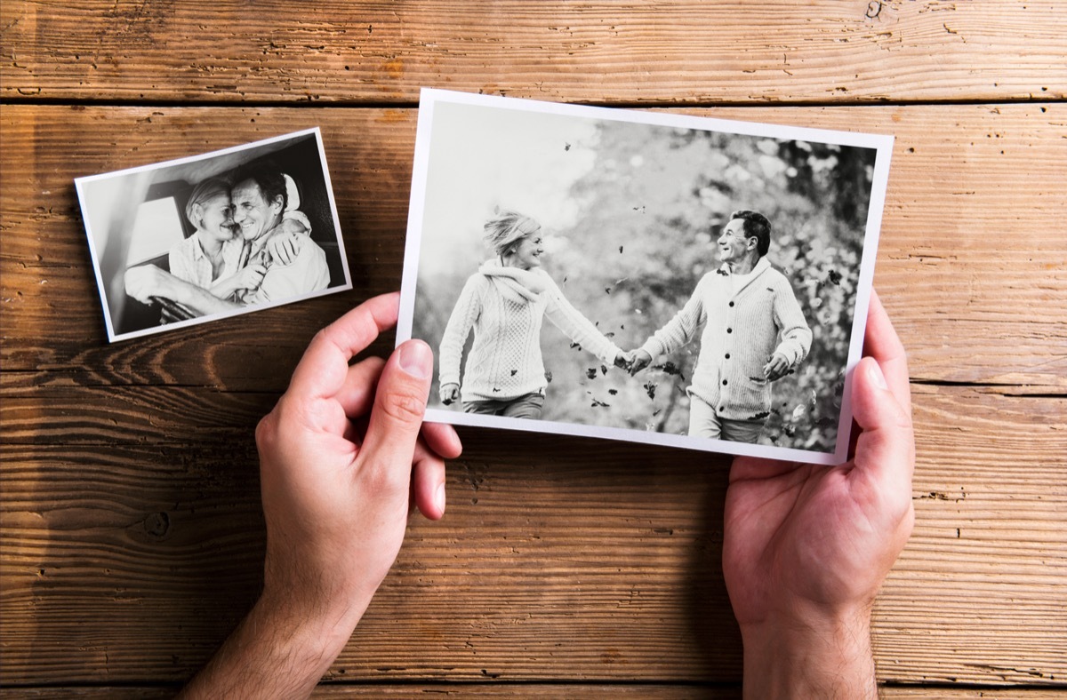
[[[316,333],[292,372],[289,391],[309,397],[340,391],[348,361],[396,324],[399,302],[396,292],[367,299]]]

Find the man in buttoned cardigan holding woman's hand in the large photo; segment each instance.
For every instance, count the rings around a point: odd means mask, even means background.
[[[811,329],[789,279],[770,266],[770,222],[735,211],[717,242],[721,266],[634,351],[631,374],[692,340],[703,325],[689,395],[689,435],[755,442],[770,414],[770,387],[807,357]]]

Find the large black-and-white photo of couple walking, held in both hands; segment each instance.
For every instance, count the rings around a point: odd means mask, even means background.
[[[424,89],[427,420],[845,459],[892,137]]]

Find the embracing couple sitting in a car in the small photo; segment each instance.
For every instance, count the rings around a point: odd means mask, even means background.
[[[126,293],[144,304],[159,302],[176,318],[193,318],[325,289],[325,253],[312,240],[299,206],[292,178],[269,161],[198,182],[186,204],[196,231],[171,248],[170,272],[127,270]]]

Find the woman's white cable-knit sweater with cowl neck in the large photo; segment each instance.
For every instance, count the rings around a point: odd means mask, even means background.
[[[441,339],[441,386],[460,384],[460,357],[474,328],[474,344],[463,370],[464,403],[509,401],[544,391],[548,382],[541,359],[541,321],[545,315],[607,364],[621,353],[571,306],[547,273],[530,271],[544,282],[544,291],[535,293],[501,276],[500,270],[498,262],[490,260],[467,279]]]

